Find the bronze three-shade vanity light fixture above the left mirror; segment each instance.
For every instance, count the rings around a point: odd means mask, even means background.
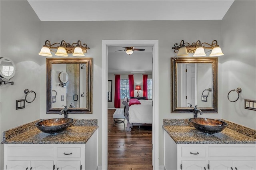
[[[57,51],[53,51],[52,49],[57,49]],[[87,47],[86,43],[82,45],[81,41],[78,40],[77,43],[66,43],[64,40],[61,41],[61,43],[53,43],[51,44],[49,40],[45,41],[44,46],[42,47],[39,55],[46,56],[46,57],[52,57],[51,51],[55,53],[55,55],[60,57],[68,57],[68,54],[71,54],[76,57],[82,57],[84,56],[84,53],[87,53],[87,49],[90,49]]]

